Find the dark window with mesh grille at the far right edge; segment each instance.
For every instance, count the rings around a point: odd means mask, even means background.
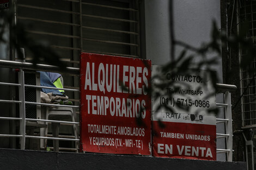
[[[256,1],[241,1],[239,8],[239,23],[248,22],[249,32],[246,39],[251,39],[256,46]],[[246,55],[245,49],[240,49],[240,58]],[[256,68],[256,60],[254,60],[251,68]],[[242,115],[243,127],[256,127],[256,74],[241,70],[241,94],[243,93]]]

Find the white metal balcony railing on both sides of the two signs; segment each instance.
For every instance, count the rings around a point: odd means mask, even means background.
[[[17,62],[17,61],[7,61],[0,60],[0,67],[9,67],[9,68],[20,68],[19,72],[19,84],[14,83],[2,83],[0,85],[8,85],[8,86],[17,86],[19,87],[19,100],[0,100],[0,103],[17,103],[20,105],[20,117],[0,117],[0,119],[5,120],[16,120],[20,121],[20,134],[19,135],[8,135],[8,134],[0,134],[0,137],[20,137],[20,148],[25,149],[25,139],[26,138],[42,138],[42,139],[51,139],[51,140],[65,140],[65,141],[80,141],[79,138],[67,138],[65,135],[60,135],[63,137],[45,137],[45,136],[31,136],[26,135],[26,121],[37,121],[37,122],[51,122],[51,123],[65,123],[65,124],[80,124],[79,122],[67,122],[67,121],[55,121],[48,119],[33,119],[26,118],[26,104],[33,105],[44,105],[44,106],[56,106],[56,104],[45,104],[45,103],[36,103],[36,102],[26,102],[25,101],[25,87],[32,87],[36,89],[46,88],[46,89],[58,89],[54,87],[45,87],[45,86],[37,86],[37,85],[27,85],[24,82],[24,72],[23,69],[26,70],[40,70],[40,71],[59,71],[59,68],[56,66],[49,65],[36,65],[27,63],[27,62]],[[79,68],[68,67],[65,71],[71,74],[79,74]],[[227,161],[232,161],[232,151],[233,151],[233,132],[232,132],[232,118],[231,118],[231,96],[229,91],[233,91],[236,89],[234,85],[226,85],[226,84],[217,84],[217,93],[223,93],[224,95],[224,103],[216,103],[217,108],[224,109],[224,118],[216,118],[216,123],[221,124],[224,123],[225,134],[216,134],[217,138],[225,138],[226,146],[223,149],[217,148],[217,154],[226,153]],[[75,89],[64,89],[66,91],[79,91]],[[63,105],[62,105],[63,106]],[[80,106],[70,106],[65,105],[70,108],[80,108]],[[65,148],[63,148],[65,150]]]

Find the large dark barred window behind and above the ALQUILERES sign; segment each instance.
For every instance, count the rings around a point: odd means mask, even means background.
[[[70,67],[79,67],[80,52],[140,57],[137,0],[17,0],[16,9],[28,35],[50,43]],[[64,81],[64,87],[79,87],[78,77]]]

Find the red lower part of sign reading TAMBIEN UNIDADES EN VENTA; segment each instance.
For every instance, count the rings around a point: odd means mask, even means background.
[[[216,125],[154,121],[153,156],[216,160]]]

